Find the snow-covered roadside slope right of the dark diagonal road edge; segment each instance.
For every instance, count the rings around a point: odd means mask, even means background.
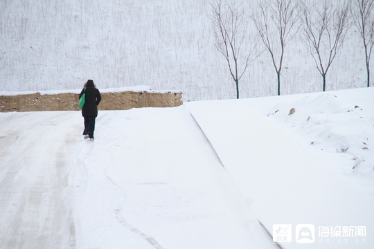
[[[316,234],[323,226],[361,224],[372,230],[372,90],[187,106],[243,198],[269,230],[274,224],[312,224]],[[341,237],[319,239],[315,248],[349,248],[336,243]],[[374,238],[365,241],[364,248],[370,248]]]

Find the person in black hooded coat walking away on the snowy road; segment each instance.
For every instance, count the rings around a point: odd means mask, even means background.
[[[80,92],[79,99],[82,98],[82,94],[86,93],[84,100],[84,107],[82,108],[82,116],[84,118],[84,138],[93,141],[95,131],[95,121],[98,116],[98,104],[101,101],[100,91],[96,89],[93,80],[88,80],[84,84],[84,88]]]

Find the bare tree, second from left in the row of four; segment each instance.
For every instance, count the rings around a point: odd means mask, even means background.
[[[258,11],[251,19],[271,57],[278,80],[278,95],[281,95],[281,71],[283,55],[288,42],[299,29],[297,2],[293,0],[262,0]]]

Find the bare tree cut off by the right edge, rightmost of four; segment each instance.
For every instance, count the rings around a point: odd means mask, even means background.
[[[374,0],[355,0],[353,3],[353,21],[364,42],[367,84],[370,86],[370,59],[374,46]]]

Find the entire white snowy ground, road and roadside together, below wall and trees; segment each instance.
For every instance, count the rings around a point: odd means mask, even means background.
[[[374,248],[373,95],[99,111],[94,142],[80,111],[0,113],[0,248],[278,248],[260,223],[315,226],[282,248]]]

